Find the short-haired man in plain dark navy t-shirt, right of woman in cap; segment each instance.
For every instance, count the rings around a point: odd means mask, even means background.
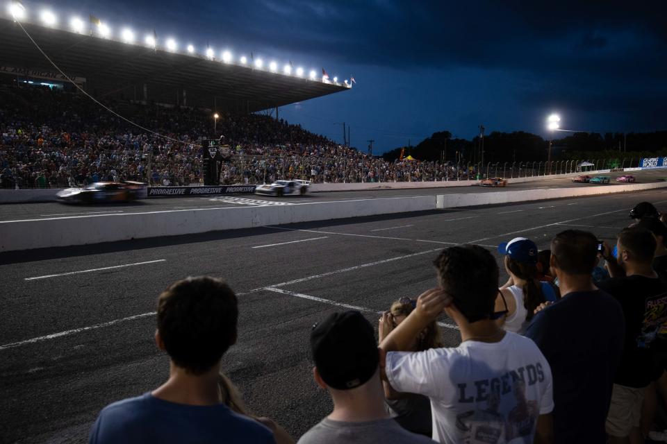
[[[561,299],[542,309],[527,328],[554,377],[555,443],[606,443],[604,423],[623,351],[620,304],[593,284],[598,239],[581,230],[551,242],[550,268]]]

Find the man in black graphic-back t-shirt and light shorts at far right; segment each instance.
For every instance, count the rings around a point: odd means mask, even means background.
[[[657,219],[656,223],[660,223]],[[607,261],[618,261],[625,276],[598,283],[623,308],[625,343],[623,355],[611,392],[607,415],[610,442],[643,443],[641,407],[649,384],[659,377],[654,366],[652,345],[662,338],[667,323],[667,284],[652,267],[656,239],[652,232],[639,226],[625,228],[618,234],[618,258],[605,246]]]

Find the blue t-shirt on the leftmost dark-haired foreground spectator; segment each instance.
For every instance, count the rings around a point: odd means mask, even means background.
[[[89,444],[275,443],[273,432],[224,404],[176,404],[145,393],[104,407]]]

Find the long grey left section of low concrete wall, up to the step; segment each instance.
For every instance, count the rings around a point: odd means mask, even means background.
[[[0,251],[434,210],[436,196],[0,221]],[[103,217],[100,217],[103,216]]]

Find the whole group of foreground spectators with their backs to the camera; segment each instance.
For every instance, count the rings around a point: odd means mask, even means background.
[[[647,202],[629,216],[615,246],[582,230],[543,251],[519,237],[497,247],[500,266],[481,246],[445,248],[438,287],[393,302],[377,336],[359,311],[322,318],[304,347],[334,409],[298,442],[664,441],[650,428],[667,395],[667,225]],[[457,347],[443,346],[443,314],[459,328]],[[224,281],[175,282],[156,317],[169,379],[104,408],[91,443],[295,442],[248,411],[220,371],[239,339]]]

